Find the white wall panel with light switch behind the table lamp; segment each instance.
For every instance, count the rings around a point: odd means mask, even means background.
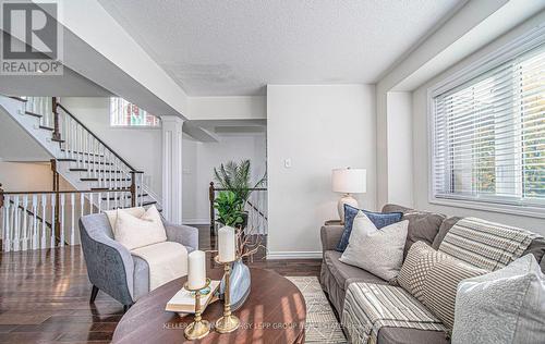
[[[331,169],[367,169],[367,193],[358,198],[376,209],[375,130],[372,85],[267,86],[271,258],[320,256],[319,229],[338,218]]]

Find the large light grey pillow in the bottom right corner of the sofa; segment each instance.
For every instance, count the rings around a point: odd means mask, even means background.
[[[545,279],[533,255],[458,285],[452,343],[544,343]]]

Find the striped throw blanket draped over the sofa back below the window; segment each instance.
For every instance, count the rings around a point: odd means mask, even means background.
[[[537,234],[476,218],[458,221],[439,251],[474,267],[495,271],[520,258]]]

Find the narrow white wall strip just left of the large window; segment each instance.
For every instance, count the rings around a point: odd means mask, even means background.
[[[387,103],[388,202],[412,207],[412,94],[390,91]]]

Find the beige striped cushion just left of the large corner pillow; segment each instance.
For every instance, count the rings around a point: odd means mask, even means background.
[[[455,258],[439,260],[429,269],[424,280],[423,303],[447,328],[452,329],[458,284],[464,279],[488,272]]]

